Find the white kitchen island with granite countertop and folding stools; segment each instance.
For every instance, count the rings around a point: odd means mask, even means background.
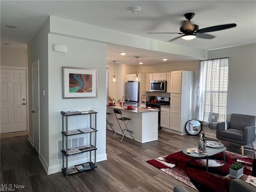
[[[132,136],[134,137],[134,140],[140,143],[158,140],[158,109],[139,109],[139,107],[137,107],[133,108],[132,110],[128,110],[126,107],[123,108],[120,105],[107,106],[107,112],[111,113],[108,122],[113,124],[112,127],[115,131],[118,129],[119,125],[116,120],[113,108],[120,109],[123,117],[128,117],[132,119],[130,121],[128,129],[133,132]],[[125,130],[124,123],[121,125],[121,127],[123,130]],[[123,134],[120,129],[118,130],[118,133]],[[128,132],[126,132],[125,136],[132,139]]]

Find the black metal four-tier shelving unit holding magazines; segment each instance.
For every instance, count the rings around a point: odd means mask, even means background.
[[[84,112],[60,112],[62,114],[62,171],[66,177],[73,173],[78,173],[90,169],[95,169],[96,166],[96,136],[97,136],[97,113],[95,111],[89,110]],[[77,115],[89,115],[90,116],[90,127],[77,129],[77,130],[68,130],[68,118],[75,118]],[[72,116],[72,117],[71,117]],[[94,117],[94,126],[92,126],[92,118]],[[68,148],[68,136],[79,135],[79,134],[90,134],[90,141],[88,141],[88,145],[80,146],[76,148]],[[66,144],[65,144],[66,138]],[[94,142],[92,141],[94,138]],[[90,143],[89,143],[90,142]],[[73,172],[68,172],[68,156],[79,154],[79,153],[90,153],[89,162],[84,162],[82,164],[74,165]],[[92,162],[92,152],[94,152],[94,162]],[[66,165],[65,165],[66,160]],[[87,166],[85,166],[87,165]],[[89,165],[89,166],[88,166]],[[82,169],[78,169],[78,168]],[[84,169],[83,169],[84,167]]]

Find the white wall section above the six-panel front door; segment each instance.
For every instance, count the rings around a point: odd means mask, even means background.
[[[0,65],[28,67],[28,50],[1,45]]]

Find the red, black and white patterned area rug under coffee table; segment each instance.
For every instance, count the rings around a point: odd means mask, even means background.
[[[193,158],[190,163],[191,158],[182,151],[147,162],[199,192],[227,192],[223,177],[229,174],[230,165],[235,161],[242,162],[244,174],[251,175],[253,159],[228,151],[225,151],[225,158],[226,164],[222,153],[210,157],[208,172],[206,159]]]

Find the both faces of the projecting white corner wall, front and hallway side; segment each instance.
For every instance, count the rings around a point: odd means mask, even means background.
[[[106,160],[106,44],[87,41],[68,34],[51,34],[49,19],[28,44],[28,63],[39,59],[40,93],[40,160],[48,174],[60,172],[62,161],[57,160],[57,141],[62,139],[62,110],[95,110],[97,114],[97,162]],[[55,28],[58,27],[56,24]],[[68,26],[67,26],[68,27]],[[65,33],[65,31],[62,31]],[[54,52],[54,44],[64,44],[67,53]],[[98,70],[97,98],[62,99],[62,66],[92,68]],[[31,84],[31,77],[30,77]],[[31,86],[31,85],[30,85]],[[30,91],[31,102],[31,91]],[[98,108],[94,108],[98,102]],[[69,129],[88,127],[82,117],[70,120]],[[102,121],[104,119],[104,121]],[[30,124],[32,119],[30,118]],[[84,123],[81,123],[84,122]],[[81,127],[81,125],[84,125]],[[32,138],[33,132],[30,132]],[[85,135],[85,139],[88,137]],[[104,142],[102,142],[104,141]],[[88,144],[88,143],[85,143]],[[70,165],[88,158],[84,153],[79,158],[70,158]],[[82,162],[81,162],[82,163]]]

